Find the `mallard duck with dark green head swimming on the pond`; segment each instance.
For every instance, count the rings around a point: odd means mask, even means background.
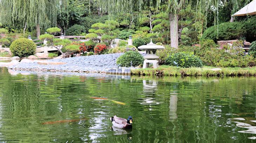
[[[128,119],[119,118],[116,115],[110,118],[113,126],[115,128],[121,128],[121,129],[130,129],[133,128],[133,118],[132,116],[129,116]]]

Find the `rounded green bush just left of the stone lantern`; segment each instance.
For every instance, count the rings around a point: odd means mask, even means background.
[[[139,66],[140,64],[143,64],[144,58],[143,56],[137,52],[137,51],[128,51],[121,55],[117,60],[117,65],[120,64],[122,67],[130,67],[131,61],[133,62],[133,66]]]

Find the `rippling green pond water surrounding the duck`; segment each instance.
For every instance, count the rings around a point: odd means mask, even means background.
[[[256,142],[254,77],[9,72],[0,68],[1,142]],[[112,128],[113,115],[133,116],[133,129]]]

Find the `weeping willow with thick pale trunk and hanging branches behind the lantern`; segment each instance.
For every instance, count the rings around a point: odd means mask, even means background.
[[[170,42],[171,47],[178,48],[178,13],[180,10],[186,9],[187,6],[192,7],[196,12],[207,15],[209,11],[213,11],[218,21],[218,8],[225,5],[229,0],[95,0],[101,10],[105,10],[109,14],[126,13],[133,11],[147,10],[155,7],[163,12],[168,13],[170,22]],[[238,7],[241,0],[230,0],[233,7]],[[251,0],[242,0],[248,3]],[[237,8],[236,8],[237,9]]]

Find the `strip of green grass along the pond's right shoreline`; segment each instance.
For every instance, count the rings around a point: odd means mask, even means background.
[[[139,76],[256,76],[256,67],[249,68],[220,68],[221,70],[213,70],[217,67],[202,68],[180,68],[172,66],[160,66],[157,69],[146,68],[146,69],[132,69],[132,75]]]

